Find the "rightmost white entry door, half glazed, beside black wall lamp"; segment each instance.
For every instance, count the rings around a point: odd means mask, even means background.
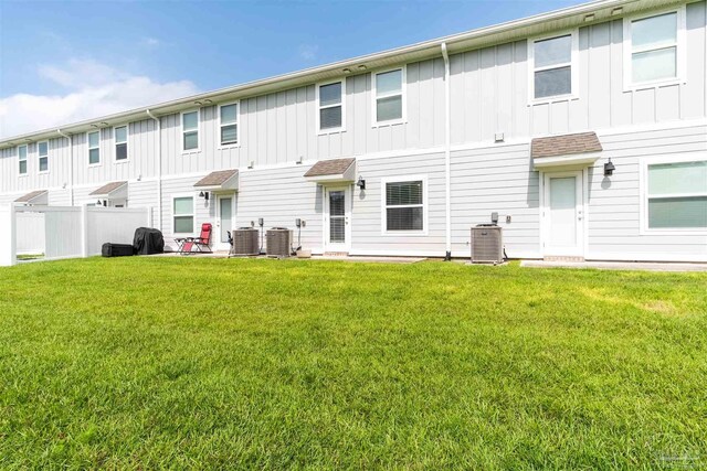
[[[582,171],[545,174],[545,256],[584,255]]]

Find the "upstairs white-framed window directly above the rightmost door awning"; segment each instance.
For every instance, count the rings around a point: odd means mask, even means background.
[[[547,99],[574,93],[574,34],[531,42],[532,98]]]

